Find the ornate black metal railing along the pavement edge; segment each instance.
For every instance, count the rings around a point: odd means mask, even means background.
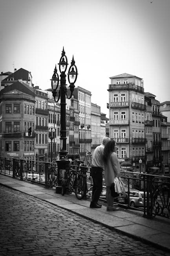
[[[86,172],[87,188],[89,189],[92,186],[91,167],[80,166],[80,168],[83,173]],[[0,173],[42,184],[47,188],[56,187],[58,184],[58,169],[55,161],[48,163],[0,157]],[[127,194],[126,204],[122,206],[132,209],[135,207],[135,209],[143,211],[144,217],[170,218],[169,176],[121,171],[121,178]],[[106,187],[104,186],[103,189],[106,190]],[[106,201],[106,198],[103,200]],[[132,202],[141,202],[141,205],[135,205]]]

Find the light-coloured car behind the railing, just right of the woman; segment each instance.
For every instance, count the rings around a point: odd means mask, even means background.
[[[137,189],[130,189],[129,203],[132,207],[144,207],[144,192]]]

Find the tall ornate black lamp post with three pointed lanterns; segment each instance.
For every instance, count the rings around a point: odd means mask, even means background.
[[[66,171],[66,165],[68,165],[68,159],[67,159],[67,148],[66,148],[66,97],[70,99],[73,95],[75,82],[77,80],[77,67],[75,65],[74,58],[71,61],[71,65],[68,70],[68,82],[69,82],[69,90],[70,95],[68,96],[68,90],[66,87],[66,70],[68,66],[68,60],[67,56],[65,55],[64,47],[62,50],[61,58],[58,63],[59,70],[60,70],[60,87],[59,85],[59,76],[57,73],[57,68],[55,65],[54,73],[51,78],[51,88],[52,88],[52,94],[54,97],[55,102],[58,102],[60,99],[60,116],[61,116],[61,129],[60,129],[60,151],[59,151],[59,157],[60,159],[57,161],[58,166],[58,184],[56,187],[56,193],[61,193],[61,181],[64,178],[64,172]],[[75,68],[75,70],[74,70]],[[58,89],[58,91],[57,91]]]

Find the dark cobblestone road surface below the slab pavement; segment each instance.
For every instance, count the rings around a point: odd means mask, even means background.
[[[170,256],[170,253],[0,186],[0,255]]]

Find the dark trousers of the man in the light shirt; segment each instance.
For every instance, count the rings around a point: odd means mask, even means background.
[[[91,167],[91,177],[93,178],[92,200],[91,204],[97,204],[102,192],[103,169],[100,167]]]

